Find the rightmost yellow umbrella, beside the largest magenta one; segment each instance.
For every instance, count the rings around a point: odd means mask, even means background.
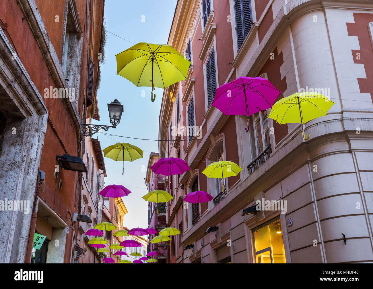
[[[269,114],[269,118],[279,124],[302,124],[303,138],[305,138],[303,124],[320,116],[326,116],[334,104],[329,98],[316,92],[297,92],[276,102]]]

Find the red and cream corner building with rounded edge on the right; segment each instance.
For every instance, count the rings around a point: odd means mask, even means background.
[[[191,170],[167,183],[167,225],[182,232],[169,262],[372,262],[372,23],[364,0],[178,1],[168,44],[192,65],[164,90],[159,139],[169,141],[159,157]],[[238,77],[268,79],[277,100],[316,91],[335,104],[305,124],[307,140],[300,124],[267,118],[270,109],[245,132],[246,117],[211,105],[216,88]],[[224,191],[201,173],[219,160],[243,168]],[[183,202],[197,190],[214,199]],[[283,207],[242,213],[263,199]]]

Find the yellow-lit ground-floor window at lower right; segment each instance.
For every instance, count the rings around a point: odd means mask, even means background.
[[[280,220],[254,231],[256,263],[286,263]]]

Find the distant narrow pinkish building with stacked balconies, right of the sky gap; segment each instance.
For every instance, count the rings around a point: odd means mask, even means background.
[[[159,160],[158,153],[150,153],[148,166],[145,176],[145,185],[147,186],[148,192],[154,190],[164,190],[167,176],[154,173],[150,169]],[[148,202],[148,228],[154,228],[159,232],[160,230],[167,227],[167,203],[154,203]],[[150,240],[153,239],[156,235],[148,235],[148,252],[156,251],[158,252],[157,256],[152,256],[157,260],[158,263],[167,262],[167,246],[165,243],[151,243]]]

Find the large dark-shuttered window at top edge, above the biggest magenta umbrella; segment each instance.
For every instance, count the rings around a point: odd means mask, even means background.
[[[253,27],[253,17],[251,15],[250,0],[234,0],[236,14],[237,50],[244,43],[246,36]]]

